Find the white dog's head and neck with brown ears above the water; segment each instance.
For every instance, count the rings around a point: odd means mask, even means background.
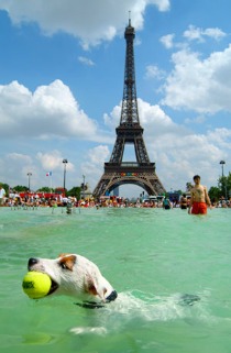
[[[77,254],[61,254],[55,260],[30,258],[29,271],[47,274],[52,279],[48,295],[73,296],[78,305],[99,308],[117,299],[117,291],[101,275],[96,264]]]

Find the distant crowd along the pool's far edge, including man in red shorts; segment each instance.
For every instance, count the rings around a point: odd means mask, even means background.
[[[173,208],[180,208],[188,210],[188,213],[193,214],[206,214],[207,208],[230,208],[231,200],[226,200],[223,197],[217,201],[211,202],[207,188],[200,184],[200,176],[194,177],[195,186],[190,190],[190,195],[183,194],[179,199],[170,200],[167,196],[155,199],[141,199],[135,201],[129,201],[122,197],[101,197],[98,200],[94,198],[77,200],[76,197],[64,197],[62,195],[53,195],[46,197],[41,192],[24,192],[23,195],[11,190],[7,196],[7,192],[2,185],[0,185],[0,206],[13,207],[13,208],[38,208],[38,207],[66,207],[67,213],[70,213],[72,208],[163,208],[169,210]]]

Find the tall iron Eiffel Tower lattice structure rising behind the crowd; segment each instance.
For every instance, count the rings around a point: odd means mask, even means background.
[[[148,195],[165,192],[155,173],[155,163],[150,162],[143,140],[143,128],[140,125],[133,49],[135,31],[130,19],[124,37],[127,54],[120,125],[116,129],[117,141],[111,158],[109,163],[105,163],[105,173],[92,192],[95,198],[109,195],[114,188],[124,184],[140,186]],[[125,144],[133,144],[136,162],[122,162]]]

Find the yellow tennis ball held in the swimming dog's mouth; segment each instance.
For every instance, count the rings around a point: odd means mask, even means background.
[[[22,282],[24,293],[31,299],[38,299],[45,297],[51,289],[52,279],[48,275],[41,272],[29,272]]]

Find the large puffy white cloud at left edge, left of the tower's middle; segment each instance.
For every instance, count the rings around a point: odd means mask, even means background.
[[[16,81],[0,86],[0,115],[1,137],[98,139],[96,122],[61,80],[37,87],[34,93]]]

